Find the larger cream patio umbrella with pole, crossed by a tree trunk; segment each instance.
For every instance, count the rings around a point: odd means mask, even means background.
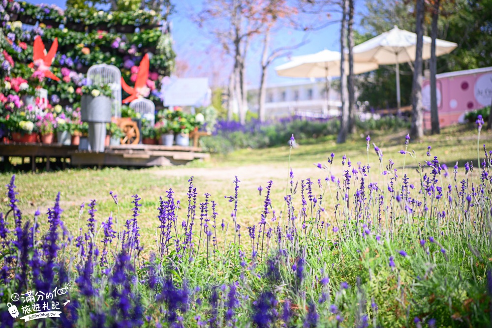
[[[379,65],[396,65],[397,71],[397,102],[400,109],[400,63],[415,61],[417,34],[400,30],[395,26],[372,39],[354,47],[354,60],[375,61]],[[453,51],[458,44],[441,39],[435,40],[435,54],[442,56]],[[422,59],[431,58],[431,38],[424,36]]]

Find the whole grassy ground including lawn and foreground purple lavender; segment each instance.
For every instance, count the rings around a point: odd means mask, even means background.
[[[0,327],[490,327],[491,137],[456,135],[2,176]]]

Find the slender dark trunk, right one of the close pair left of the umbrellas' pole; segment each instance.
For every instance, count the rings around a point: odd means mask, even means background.
[[[348,0],[348,133],[355,133],[355,87],[354,87],[354,0]]]

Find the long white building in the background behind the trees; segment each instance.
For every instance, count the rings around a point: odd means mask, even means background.
[[[324,81],[271,85],[266,88],[267,118],[283,116],[333,117],[340,115],[341,102],[337,90],[330,88],[326,99]],[[248,109],[258,113],[258,88],[248,88]]]

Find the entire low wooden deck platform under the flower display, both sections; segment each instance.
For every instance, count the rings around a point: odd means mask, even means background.
[[[198,147],[159,146],[159,145],[119,145],[106,147],[104,152],[78,150],[78,146],[62,146],[60,144],[40,143],[0,143],[0,170],[9,157],[21,157],[24,164],[29,157],[32,172],[36,171],[36,159],[45,161],[46,171],[50,170],[51,159],[56,158],[65,168],[69,163],[73,166],[168,166],[185,164],[194,159],[208,159],[210,154],[202,152]],[[43,162],[44,164],[44,162]]]

